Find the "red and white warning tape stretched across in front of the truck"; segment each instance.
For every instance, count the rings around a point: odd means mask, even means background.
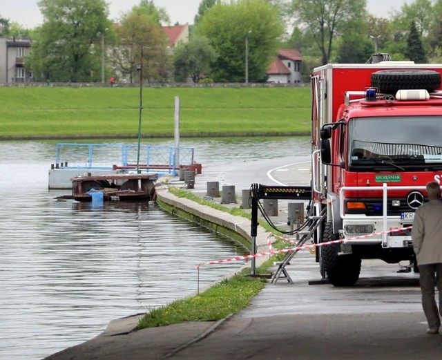
[[[326,243],[302,245],[302,246],[297,246],[297,247],[287,247],[286,249],[281,249],[281,250],[271,250],[270,249],[269,252],[260,252],[258,254],[250,254],[250,255],[244,255],[244,256],[235,256],[233,258],[225,258],[225,259],[222,259],[222,260],[207,261],[206,263],[198,264],[196,268],[200,269],[200,267],[202,267],[204,265],[214,265],[214,264],[220,264],[220,263],[231,263],[232,261],[249,260],[251,258],[259,258],[261,256],[269,256],[269,255],[276,255],[276,254],[282,254],[282,253],[287,253],[287,252],[295,252],[295,251],[300,251],[302,249],[316,249],[316,247],[344,243],[344,241],[346,241],[346,240],[356,240],[356,239],[361,239],[361,238],[369,238],[369,237],[372,237],[372,236],[375,236],[375,235],[388,234],[388,233],[392,233],[392,232],[398,232],[398,231],[410,230],[410,229],[412,229],[411,226],[409,226],[409,227],[402,227],[400,229],[391,229],[391,230],[387,230],[387,231],[381,231],[381,232],[378,232],[378,233],[368,234],[368,235],[363,235],[363,236],[355,236],[354,238],[347,238],[347,239],[338,239],[338,240],[327,241]],[[283,238],[282,236],[278,236],[278,235],[275,235],[275,234],[269,234],[269,236],[267,236],[267,245],[269,245],[269,247],[271,247],[271,241],[270,241],[270,237],[271,236],[275,236],[276,238],[281,238],[283,240],[287,240],[290,243],[295,243],[295,241],[296,241],[296,240],[291,240],[291,239],[288,239],[288,238]]]

